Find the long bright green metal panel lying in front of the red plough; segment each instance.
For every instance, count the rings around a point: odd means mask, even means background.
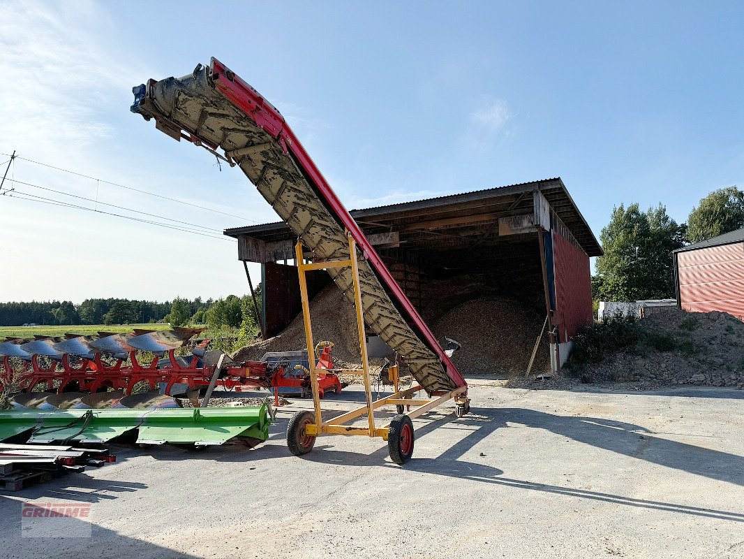
[[[140,443],[222,444],[269,438],[266,405],[243,408],[54,410],[0,412],[0,440],[31,432],[30,443],[100,443],[139,429]]]

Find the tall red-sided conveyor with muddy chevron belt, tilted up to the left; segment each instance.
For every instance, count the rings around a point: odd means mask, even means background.
[[[183,78],[150,80],[133,91],[132,112],[154,118],[158,130],[174,139],[187,139],[239,165],[312,250],[313,262],[348,259],[348,231],[359,249],[367,325],[403,357],[429,394],[466,385],[278,110],[255,89],[213,58],[210,66],[199,64]],[[217,148],[222,148],[224,157]],[[329,273],[353,302],[351,271],[341,268]]]

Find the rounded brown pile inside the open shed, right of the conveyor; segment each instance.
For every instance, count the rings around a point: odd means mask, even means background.
[[[434,335],[462,344],[454,361],[461,373],[523,375],[545,315],[504,297],[481,297],[455,306],[434,323]],[[533,373],[550,370],[548,337],[538,348]]]

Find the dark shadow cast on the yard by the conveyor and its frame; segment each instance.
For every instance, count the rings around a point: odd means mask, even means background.
[[[417,429],[417,438],[420,439],[432,432],[443,423],[443,419],[440,417],[437,420],[432,420]],[[618,505],[744,522],[744,514],[738,512],[717,511],[710,508],[676,505],[574,487],[511,479],[504,477],[504,471],[496,467],[459,459],[472,446],[492,435],[497,429],[509,429],[509,423],[547,429],[566,438],[591,444],[610,452],[618,452],[622,455],[632,456],[633,458],[710,479],[744,485],[744,458],[741,456],[658,438],[653,436],[648,429],[630,423],[593,417],[563,417],[521,408],[501,408],[485,411],[473,409],[472,413],[466,417],[452,421],[452,425],[469,428],[469,435],[446,449],[437,458],[413,458],[408,464],[405,464],[404,468],[420,473],[592,499]],[[318,442],[321,442],[321,440]],[[362,455],[357,452],[339,450],[338,446],[331,447],[316,443],[313,452],[303,458],[325,464],[396,467],[385,461],[387,455],[388,449],[386,447],[378,449],[370,455]]]

